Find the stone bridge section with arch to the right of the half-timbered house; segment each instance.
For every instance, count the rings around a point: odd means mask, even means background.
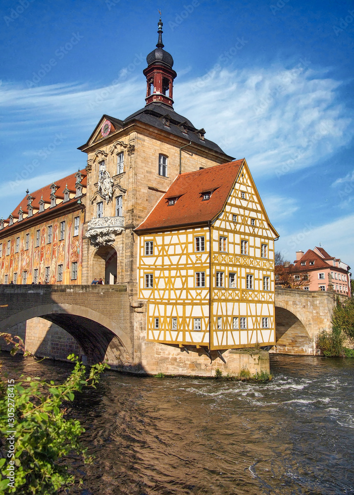
[[[337,296],[341,301],[347,299],[333,291],[276,289],[276,344],[270,352],[314,355],[318,333],[332,328],[332,311]]]

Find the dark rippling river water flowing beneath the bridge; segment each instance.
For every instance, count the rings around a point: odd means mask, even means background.
[[[71,365],[1,353],[11,375],[64,380]],[[271,355],[247,384],[105,372],[69,409],[93,466],[70,495],[354,494],[354,359]]]

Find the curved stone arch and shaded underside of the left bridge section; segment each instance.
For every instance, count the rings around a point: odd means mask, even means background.
[[[124,360],[133,362],[133,345],[118,324],[98,311],[77,304],[42,304],[18,311],[0,321],[0,331],[31,318],[55,323],[70,334],[85,352],[89,363]]]

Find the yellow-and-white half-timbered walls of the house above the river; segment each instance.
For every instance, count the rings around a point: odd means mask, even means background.
[[[241,192],[245,199],[241,199]],[[233,214],[237,215],[236,222],[232,221]],[[202,235],[204,251],[196,251],[195,238]],[[220,236],[227,237],[226,252],[219,250]],[[140,234],[138,284],[139,297],[148,299],[147,340],[209,349],[273,345],[277,237],[246,160],[222,210],[207,225],[181,225]],[[241,254],[241,239],[248,240],[247,255]],[[145,241],[153,241],[153,255],[145,256]],[[262,244],[267,245],[267,257],[261,256]],[[224,274],[224,287],[216,287],[217,271]],[[204,272],[205,287],[196,287],[196,272]],[[144,289],[148,273],[153,273],[152,289]],[[236,276],[236,288],[229,287],[230,273]],[[253,289],[246,288],[246,274],[253,275]],[[264,277],[269,277],[270,291],[263,290]],[[158,328],[154,328],[156,318]],[[176,330],[172,329],[172,318],[177,318]],[[238,328],[233,328],[234,318]],[[247,328],[240,328],[242,318]],[[268,328],[262,328],[264,318]],[[198,324],[201,330],[194,330]]]

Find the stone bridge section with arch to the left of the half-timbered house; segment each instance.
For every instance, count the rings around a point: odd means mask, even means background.
[[[55,356],[43,340],[54,325],[75,339],[80,346],[76,350],[83,360],[94,363],[105,356],[112,365],[124,363],[135,367],[141,356],[134,329],[139,328],[143,316],[139,313],[144,311],[144,303],[132,301],[126,286],[0,286],[0,332],[14,333],[12,327],[15,327],[16,334],[26,341],[28,350],[49,357]],[[42,328],[41,319],[53,325]],[[58,331],[56,338],[59,338],[56,350],[67,355],[75,341],[66,345],[63,336],[58,337]]]

